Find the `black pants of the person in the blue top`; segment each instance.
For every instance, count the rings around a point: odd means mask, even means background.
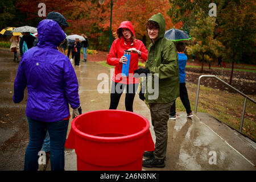
[[[185,83],[180,83],[180,100],[184,105],[187,114],[191,113],[192,111],[191,111],[190,102],[188,99],[188,91]],[[174,101],[174,104],[172,105],[170,110],[170,115],[175,115],[175,114],[176,114],[176,106]]]

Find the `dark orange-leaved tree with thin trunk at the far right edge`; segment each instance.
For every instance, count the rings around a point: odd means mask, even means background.
[[[255,55],[255,1],[230,1],[220,13],[219,40],[224,44],[224,59],[232,63],[229,84],[232,84],[234,63],[249,62]],[[250,56],[251,55],[251,56]]]

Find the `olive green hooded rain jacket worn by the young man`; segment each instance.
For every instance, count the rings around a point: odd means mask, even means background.
[[[148,47],[146,68],[150,69],[152,77],[148,76],[147,80],[152,78],[152,82],[147,81],[145,97],[148,103],[164,104],[174,101],[179,97],[179,62],[177,60],[177,51],[174,43],[164,38],[166,22],[163,15],[158,13],[148,20],[153,20],[159,24],[159,34],[155,43],[152,42]],[[159,74],[158,77],[155,73]],[[159,78],[159,89],[155,88],[158,85],[154,78]]]

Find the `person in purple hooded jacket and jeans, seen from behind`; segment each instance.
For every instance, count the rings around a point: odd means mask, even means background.
[[[68,57],[57,50],[65,40],[58,23],[44,19],[38,24],[38,46],[22,56],[14,82],[15,103],[23,100],[27,86],[26,115],[30,133],[24,170],[38,170],[38,152],[46,130],[51,139],[51,169],[64,170],[64,144],[70,118],[81,114],[79,85]]]

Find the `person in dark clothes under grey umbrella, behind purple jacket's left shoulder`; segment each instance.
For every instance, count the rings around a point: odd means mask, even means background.
[[[19,51],[20,51],[20,56],[23,55],[28,49],[33,47],[33,43],[35,40],[35,37],[30,34],[30,32],[23,32],[23,36],[20,39],[19,42]]]

